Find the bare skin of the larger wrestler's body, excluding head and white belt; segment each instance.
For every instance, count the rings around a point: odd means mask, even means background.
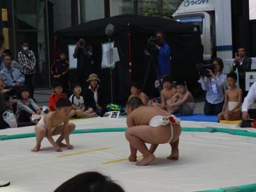
[[[130,110],[130,109],[128,109]],[[140,106],[128,113],[127,125],[128,129],[125,132],[127,140],[130,142],[131,155],[129,156],[129,161],[136,161],[136,150],[140,150],[143,154],[143,159],[137,163],[137,165],[146,165],[156,158],[153,155],[154,150],[156,150],[159,143],[164,143],[166,140],[172,136],[170,125],[161,125],[159,127],[153,128],[149,126],[150,120],[154,116],[170,116],[168,111],[153,106]],[[173,138],[172,143],[175,142],[174,150],[168,159],[179,159],[179,136],[181,132],[181,127],[179,124],[173,125]],[[130,141],[130,136],[132,140]],[[141,143],[142,142],[142,143]],[[143,143],[151,143],[150,150]],[[171,144],[171,143],[170,143]],[[172,145],[172,144],[171,144]],[[135,150],[134,150],[135,148]]]

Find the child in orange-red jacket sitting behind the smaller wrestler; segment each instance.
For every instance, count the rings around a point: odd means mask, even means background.
[[[50,111],[56,111],[56,102],[62,98],[62,97],[67,97],[65,94],[62,93],[63,86],[60,82],[56,81],[53,84],[54,88],[54,93],[50,95],[49,98],[49,109]]]

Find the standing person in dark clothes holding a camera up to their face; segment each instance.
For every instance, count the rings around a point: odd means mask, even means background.
[[[77,59],[77,83],[83,87],[84,80],[92,74],[92,46],[87,45],[84,38],[80,38],[76,44],[73,57]]]

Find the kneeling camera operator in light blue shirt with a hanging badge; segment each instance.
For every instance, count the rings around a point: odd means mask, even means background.
[[[214,71],[206,68],[207,76],[200,75],[198,83],[201,84],[202,89],[206,91],[206,100],[204,104],[205,115],[218,115],[221,113],[224,104],[223,88],[227,76],[222,73],[223,61],[221,58],[214,58]]]

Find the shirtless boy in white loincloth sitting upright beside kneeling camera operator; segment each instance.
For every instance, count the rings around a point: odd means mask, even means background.
[[[241,120],[241,104],[243,91],[236,86],[237,75],[230,73],[227,75],[228,90],[225,91],[225,100],[222,112],[218,114],[219,120]],[[228,106],[228,111],[226,111]]]

